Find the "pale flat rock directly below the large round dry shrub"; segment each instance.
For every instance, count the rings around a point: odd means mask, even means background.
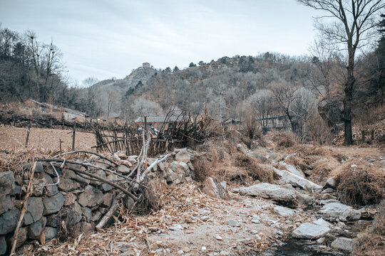
[[[351,206],[342,203],[327,203],[319,210],[319,213],[324,214],[327,218],[345,218],[347,220],[359,220],[361,218],[359,210],[354,210]]]

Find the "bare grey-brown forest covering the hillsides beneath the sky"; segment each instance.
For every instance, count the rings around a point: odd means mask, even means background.
[[[385,83],[385,21],[376,27],[373,47],[356,58],[351,116],[361,127],[383,112]],[[189,68],[148,68],[143,80],[83,81],[69,86],[62,53],[54,44],[39,42],[34,32],[0,30],[1,102],[29,98],[88,112],[91,117],[133,120],[161,116],[170,110],[215,119],[239,119],[245,129],[267,130],[267,117],[282,117],[302,139],[322,140],[343,129],[347,60],[330,41],[315,41],[311,55],[260,53],[222,57]],[[151,71],[152,70],[152,71]],[[135,73],[135,70],[133,71]],[[131,75],[132,76],[132,75]],[[108,85],[103,89],[103,85]],[[123,90],[124,93],[120,93]],[[115,88],[115,89],[114,89]],[[104,91],[103,91],[104,90]],[[122,95],[121,97],[118,95]],[[377,114],[377,115],[376,115]],[[250,134],[250,137],[253,135]]]

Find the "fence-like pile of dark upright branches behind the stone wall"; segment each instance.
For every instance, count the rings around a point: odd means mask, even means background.
[[[159,131],[147,129],[139,125],[129,125],[122,129],[112,127],[111,130],[102,130],[94,127],[96,135],[96,149],[100,151],[116,152],[125,151],[127,155],[138,155],[144,145],[142,132],[150,136],[148,142],[148,155],[156,156],[175,148],[194,148],[206,139],[217,137],[221,134],[222,126],[208,116],[191,117],[182,112],[178,115],[178,122],[170,121],[173,111],[168,112]]]

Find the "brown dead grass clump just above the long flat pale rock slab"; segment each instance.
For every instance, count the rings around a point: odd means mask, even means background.
[[[256,159],[242,153],[237,153],[234,158],[235,166],[245,169],[247,175],[254,180],[271,183],[274,180],[273,171],[265,168]]]

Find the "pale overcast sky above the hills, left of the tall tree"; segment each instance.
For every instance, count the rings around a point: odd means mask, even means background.
[[[80,84],[124,78],[146,62],[164,69],[267,51],[305,55],[314,16],[295,0],[0,0],[1,27],[52,39]]]

